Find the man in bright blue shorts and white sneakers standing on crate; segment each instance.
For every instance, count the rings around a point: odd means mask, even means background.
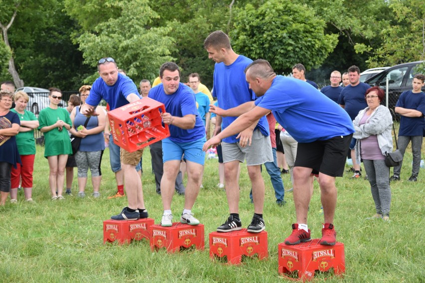
[[[161,179],[161,197],[164,213],[161,226],[173,225],[171,201],[183,154],[188,172],[188,184],[180,222],[198,225],[199,220],[194,217],[192,207],[199,194],[204,174],[205,152],[202,146],[206,141],[205,126],[198,113],[193,91],[180,82],[179,66],[173,62],[162,64],[160,79],[162,84],[153,87],[148,97],[164,103],[167,112],[161,117],[170,129],[170,137],[162,142],[164,174]]]

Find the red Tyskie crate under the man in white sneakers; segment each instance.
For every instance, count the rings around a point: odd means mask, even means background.
[[[180,248],[195,246],[197,250],[201,251],[205,248],[203,224],[189,225],[174,222],[171,227],[152,225],[150,234],[152,251],[166,248],[167,252],[175,253],[180,252]]]

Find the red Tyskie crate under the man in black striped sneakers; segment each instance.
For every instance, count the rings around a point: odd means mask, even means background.
[[[210,233],[210,258],[226,257],[228,264],[240,264],[242,256],[268,257],[267,232],[249,233],[246,229],[226,233]]]

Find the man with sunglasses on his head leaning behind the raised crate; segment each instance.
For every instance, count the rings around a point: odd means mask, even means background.
[[[84,115],[98,115],[94,109],[102,99],[109,103],[111,110],[141,99],[133,81],[118,73],[117,64],[113,58],[100,59],[97,62],[97,71],[100,77],[94,81],[90,95],[81,107],[81,113]],[[118,215],[112,216],[111,219],[113,220],[137,220],[148,217],[148,211],[145,209],[143,200],[142,180],[136,171],[136,165],[139,163],[142,154],[143,148],[135,152],[128,152],[121,148],[121,168],[124,171],[128,207],[124,207]]]

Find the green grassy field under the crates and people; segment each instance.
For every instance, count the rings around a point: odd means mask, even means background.
[[[193,209],[205,225],[205,251],[167,254],[164,250],[151,252],[148,241],[125,246],[103,244],[102,222],[127,204],[125,198],[107,199],[116,191],[108,149],[102,161],[101,197],[92,198],[92,187],[88,184],[88,197],[77,198],[75,177],[74,196],[55,202],[50,200],[48,164],[43,150],[37,147],[33,189],[36,203],[23,201],[23,193],[19,191],[17,204],[7,202],[0,207],[0,282],[287,282],[277,273],[277,245],[291,232],[291,223],[295,221],[294,202],[292,193],[286,193],[287,204],[283,207],[275,204],[265,170],[264,220],[269,258],[247,259],[239,266],[229,266],[209,258],[208,234],[228,215],[225,193],[215,187],[218,183],[216,159],[206,161],[204,188]],[[412,154],[407,152],[402,181],[391,184],[390,223],[366,219],[375,213],[368,181],[351,180],[350,173],[337,179],[334,224],[337,240],[345,244],[346,274],[342,279],[330,278],[326,282],[425,282],[425,171],[421,169],[418,182],[408,182],[411,160]],[[143,168],[145,203],[150,217],[159,223],[162,202],[155,192],[149,150],[144,152]],[[289,175],[282,178],[285,187],[290,188]],[[246,167],[242,166],[240,216],[244,227],[253,213],[249,189]],[[184,197],[174,196],[175,221],[183,202]],[[312,238],[320,238],[322,222],[316,183],[309,211]],[[317,280],[324,281],[325,277],[319,276]]]

